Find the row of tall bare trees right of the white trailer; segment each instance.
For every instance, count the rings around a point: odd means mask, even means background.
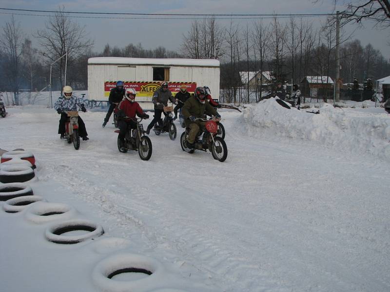
[[[265,89],[263,75],[254,78],[254,87],[242,89],[240,72],[246,72],[245,79],[249,80],[250,72],[271,71],[273,83],[299,84],[304,76],[334,77],[334,18],[324,20],[318,29],[313,27],[312,21],[303,18],[281,21],[276,16],[269,22],[258,20],[243,27],[233,20],[226,27],[217,25],[215,18],[195,20],[183,36],[181,52],[191,58],[221,60],[221,90],[226,102],[258,101]],[[348,41],[350,38],[341,31],[343,82],[352,82],[353,77],[378,79],[390,74],[390,62],[378,50],[370,44],[363,48],[360,41]]]

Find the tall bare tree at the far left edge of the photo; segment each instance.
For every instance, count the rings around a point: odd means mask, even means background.
[[[11,20],[6,22],[3,27],[1,47],[5,58],[3,70],[6,73],[10,89],[14,92],[16,105],[19,105],[22,37],[23,33],[20,28],[20,23],[16,23],[14,16],[12,16]]]

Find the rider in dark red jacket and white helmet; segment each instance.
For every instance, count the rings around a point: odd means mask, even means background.
[[[136,91],[134,88],[128,88],[126,89],[125,98],[119,103],[117,108],[117,115],[119,120],[119,143],[121,147],[124,147],[124,139],[128,127],[130,126],[132,129],[137,128],[137,122],[135,121],[136,114],[140,118],[149,119],[149,115],[142,110],[140,105],[135,100]]]

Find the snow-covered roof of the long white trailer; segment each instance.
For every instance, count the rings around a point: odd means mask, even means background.
[[[164,65],[164,66],[207,66],[219,67],[219,61],[213,59],[156,59],[156,58],[122,58],[95,57],[89,58],[88,64],[131,64],[131,65]]]

